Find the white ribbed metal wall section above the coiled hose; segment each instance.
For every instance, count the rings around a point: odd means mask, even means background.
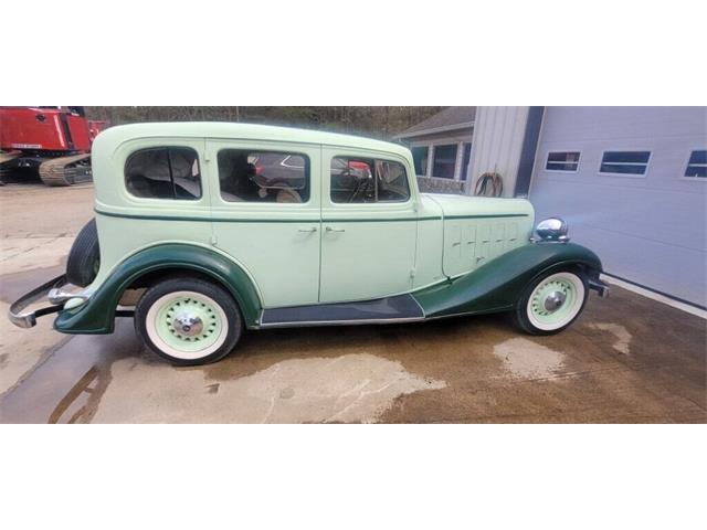
[[[477,107],[469,169],[469,192],[485,172],[504,180],[504,197],[513,197],[529,107]]]

